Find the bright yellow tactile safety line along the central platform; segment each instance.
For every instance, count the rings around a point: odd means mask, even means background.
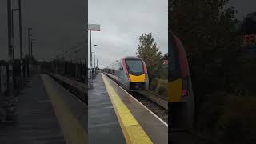
[[[153,143],[137,120],[134,118],[130,110],[122,102],[121,98],[115,92],[114,88],[110,85],[106,76],[102,74],[103,82],[105,83],[106,90],[110,96],[111,102],[114,106],[115,114],[118,117],[118,122],[122,128],[122,133],[126,138],[126,143],[150,144]]]

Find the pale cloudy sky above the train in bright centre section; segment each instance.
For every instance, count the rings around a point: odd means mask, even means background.
[[[162,53],[167,53],[167,0],[89,0],[88,4],[88,22],[101,25],[100,32],[92,32],[100,67],[134,56],[137,37],[144,33],[152,32]]]

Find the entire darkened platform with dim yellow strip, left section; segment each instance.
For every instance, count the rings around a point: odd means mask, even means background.
[[[18,95],[14,122],[0,125],[0,143],[86,143],[84,111],[82,102],[50,76],[35,74]]]

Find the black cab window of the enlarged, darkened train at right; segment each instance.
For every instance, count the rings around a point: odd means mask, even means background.
[[[178,78],[180,78],[181,71],[180,71],[180,66],[179,66],[179,58],[178,58],[178,47],[175,42],[174,35],[171,35],[171,38],[169,39],[170,46],[168,47],[168,51],[170,53],[169,57],[169,80],[174,81]]]

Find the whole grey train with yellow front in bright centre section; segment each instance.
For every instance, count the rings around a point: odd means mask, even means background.
[[[141,58],[135,56],[121,58],[106,66],[103,72],[127,91],[149,89],[146,63]]]

